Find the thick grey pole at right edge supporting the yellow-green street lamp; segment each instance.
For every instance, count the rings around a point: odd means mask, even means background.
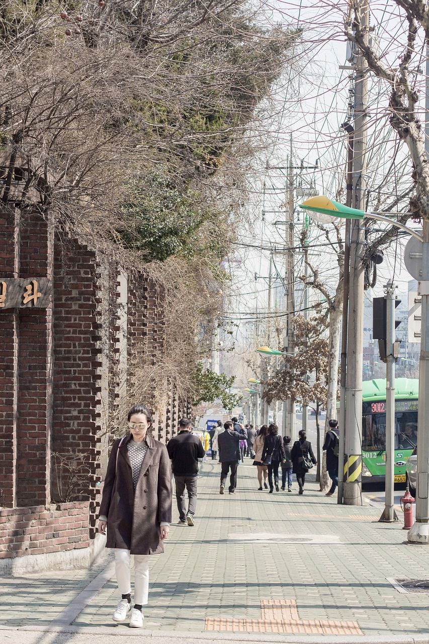
[[[424,150],[429,159],[429,41],[426,40],[426,124]],[[419,416],[417,419],[417,486],[415,523],[408,531],[408,541],[429,544],[429,222],[423,221],[423,273],[419,281],[421,296],[421,344],[419,371]]]

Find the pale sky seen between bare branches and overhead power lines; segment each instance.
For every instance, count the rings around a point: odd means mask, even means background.
[[[263,4],[265,8],[269,6],[268,3]],[[269,153],[258,160],[259,164],[256,163],[254,174],[250,178],[248,209],[249,220],[253,223],[243,226],[234,252],[229,256],[228,269],[231,272],[233,296],[229,301],[226,318],[238,325],[234,327],[236,356],[245,355],[249,350],[248,335],[254,328],[254,319],[263,316],[268,310],[270,258],[273,278],[278,281],[278,294],[281,292],[284,255],[275,252],[275,249],[283,246],[284,223],[275,222],[285,221],[287,178],[285,170],[278,167],[287,166],[291,149],[294,166],[304,166],[302,171],[296,171],[300,175],[296,177],[296,182],[301,180],[305,189],[313,185],[316,193],[327,194],[343,202],[345,200],[344,169],[347,149],[345,134],[340,126],[350,118],[349,103],[353,102],[353,97],[350,95],[352,71],[341,69],[341,66],[348,66],[350,62],[346,59],[347,42],[339,18],[341,8],[347,8],[347,3],[335,3],[333,9],[329,5],[330,3],[318,3],[315,6],[309,1],[289,3],[281,0],[271,5],[270,19],[283,24],[291,21],[302,27],[302,42],[305,44],[307,39],[309,46],[303,50],[303,70],[291,66],[279,83],[271,120],[274,144]],[[392,62],[401,51],[401,21],[397,17],[397,8],[390,0],[373,3],[372,8],[374,43],[377,42],[379,51],[388,52],[389,62]],[[320,24],[314,26],[317,19]],[[419,82],[423,82],[423,77]],[[401,182],[404,185],[410,182],[408,156],[397,146],[394,133],[388,125],[388,101],[384,89],[383,83],[378,79],[370,80],[368,84],[369,207],[377,200],[388,203],[395,196]],[[307,166],[310,167],[306,169]],[[295,194],[296,236],[300,234],[303,225],[303,214],[297,207],[300,201],[299,194]],[[376,225],[375,229],[380,231],[384,229],[384,225]],[[372,234],[375,235],[376,232]],[[390,278],[394,278],[399,293],[407,292],[408,281],[412,278],[403,263],[406,241],[407,238],[398,238],[389,249],[385,249],[385,261],[378,267],[376,287],[367,290],[365,298],[381,296],[383,287]],[[310,246],[312,261],[318,267],[321,278],[334,287],[336,256],[327,245],[325,235],[311,222]],[[295,254],[295,269],[296,275],[302,274],[302,256],[299,252]],[[319,294],[310,296],[313,302],[319,298]],[[297,292],[297,309],[300,308],[301,299],[302,291]],[[281,298],[277,301],[281,305]],[[281,310],[278,313],[278,319],[282,320]]]

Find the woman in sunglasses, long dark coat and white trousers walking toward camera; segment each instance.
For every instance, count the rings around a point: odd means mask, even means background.
[[[164,444],[149,433],[150,410],[137,404],[128,412],[129,434],[113,443],[99,515],[99,532],[115,549],[115,570],[122,599],[113,621],[143,626],[148,603],[149,559],[164,552],[171,522],[171,467]],[[130,555],[134,555],[134,608],[131,608]]]

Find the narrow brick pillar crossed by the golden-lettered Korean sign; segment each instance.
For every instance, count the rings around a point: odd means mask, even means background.
[[[53,225],[38,213],[21,216],[19,277],[52,279]],[[50,502],[52,303],[19,310],[16,505]]]

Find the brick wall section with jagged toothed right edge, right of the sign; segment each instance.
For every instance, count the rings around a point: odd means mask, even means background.
[[[91,499],[91,536],[95,536],[100,480],[96,270],[95,253],[87,246],[55,239],[51,493],[55,502],[70,495]]]

